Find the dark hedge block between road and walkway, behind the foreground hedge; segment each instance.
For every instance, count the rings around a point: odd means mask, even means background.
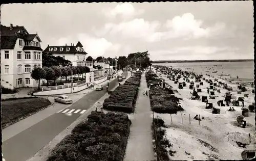
[[[103,109],[133,113],[137,100],[141,72],[134,73],[134,77],[128,78],[124,85],[118,86],[109,98],[103,103]]]

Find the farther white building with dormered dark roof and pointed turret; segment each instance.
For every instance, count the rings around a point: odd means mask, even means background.
[[[86,73],[87,82],[94,82],[93,62],[86,61],[88,53],[84,51],[83,45],[78,41],[76,45],[71,43],[71,45],[65,46],[50,46],[43,51],[44,53],[52,53],[55,57],[62,57],[69,60],[73,66],[87,66],[90,68],[90,73]]]

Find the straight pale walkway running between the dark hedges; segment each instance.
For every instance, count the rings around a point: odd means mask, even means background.
[[[135,113],[131,120],[132,125],[124,161],[156,160],[154,157],[151,133],[152,112],[150,108],[150,98],[143,96],[143,91],[146,89],[146,79],[143,73]]]

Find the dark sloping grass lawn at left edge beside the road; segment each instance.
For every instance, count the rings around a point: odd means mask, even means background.
[[[2,127],[5,128],[46,108],[51,102],[44,98],[27,98],[2,101]]]

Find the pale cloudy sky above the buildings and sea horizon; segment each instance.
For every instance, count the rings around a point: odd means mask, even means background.
[[[252,1],[2,5],[10,23],[37,32],[42,49],[80,41],[94,59],[254,59]]]

